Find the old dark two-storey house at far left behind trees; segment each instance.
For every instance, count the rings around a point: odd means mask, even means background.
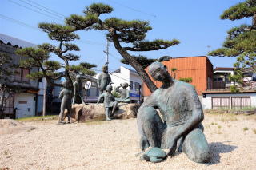
[[[30,46],[35,47],[36,45],[5,34],[0,34],[0,52],[7,53],[12,57],[10,65],[18,65],[19,61],[24,59],[15,54],[16,49]],[[22,93],[13,93],[8,99],[4,117],[22,118],[34,116],[37,113],[38,93],[40,89],[38,89],[38,81],[32,81],[26,78],[26,75],[38,71],[38,68],[18,68],[16,70],[18,74],[10,77],[10,81],[12,82],[8,84],[8,87],[20,87]]]

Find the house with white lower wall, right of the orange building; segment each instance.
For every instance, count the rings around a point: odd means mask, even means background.
[[[248,70],[246,69],[246,71]],[[236,82],[229,81],[230,75],[235,75],[234,68],[216,67],[214,69],[213,83],[208,85],[208,89],[202,91],[203,109],[241,109],[256,106],[256,91],[254,89],[250,88],[250,90],[240,93],[230,92],[231,85],[241,86]],[[245,75],[244,82],[246,84],[248,80],[251,80],[252,73]],[[254,84],[254,82],[250,82],[250,87]],[[248,86],[244,88],[248,88]]]

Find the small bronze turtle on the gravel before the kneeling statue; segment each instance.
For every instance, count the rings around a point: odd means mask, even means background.
[[[166,158],[167,154],[161,148],[150,148],[146,151],[140,160],[146,160],[153,163],[162,162]]]

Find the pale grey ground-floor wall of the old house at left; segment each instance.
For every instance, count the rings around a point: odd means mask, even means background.
[[[35,94],[34,93],[16,93],[14,98],[14,108],[20,110],[20,114],[16,118],[33,117],[35,114]],[[19,102],[26,101],[26,104]],[[30,108],[30,111],[28,110]],[[19,112],[18,112],[19,113]]]

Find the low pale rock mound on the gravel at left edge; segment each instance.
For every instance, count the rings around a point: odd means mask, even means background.
[[[0,119],[0,135],[30,132],[34,129],[34,126],[26,126],[22,122],[14,119]]]

